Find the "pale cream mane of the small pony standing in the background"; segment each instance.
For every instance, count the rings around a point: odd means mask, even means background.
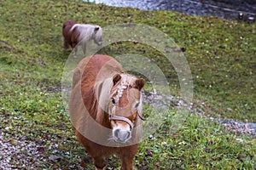
[[[96,31],[96,34],[94,33],[95,28],[98,27],[99,30]],[[92,36],[96,37],[102,37],[102,27],[101,26],[95,26],[90,24],[75,24],[72,26],[70,31],[73,31],[75,28],[79,31],[79,41],[82,39],[84,40],[90,40]]]

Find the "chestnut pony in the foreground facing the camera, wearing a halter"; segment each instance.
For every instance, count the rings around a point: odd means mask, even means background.
[[[86,57],[74,70],[71,121],[96,170],[105,169],[113,154],[119,156],[122,170],[133,169],[142,134],[144,83],[143,78],[126,74],[108,55]]]

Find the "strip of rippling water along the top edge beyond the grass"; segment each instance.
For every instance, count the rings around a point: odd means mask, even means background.
[[[212,15],[228,20],[255,21],[256,0],[85,0],[114,7],[174,10],[185,14]],[[239,14],[242,14],[239,17]]]

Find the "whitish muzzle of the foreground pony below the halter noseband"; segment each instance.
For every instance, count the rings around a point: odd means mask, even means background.
[[[125,143],[131,139],[131,127],[126,122],[113,121],[113,139],[115,142]]]

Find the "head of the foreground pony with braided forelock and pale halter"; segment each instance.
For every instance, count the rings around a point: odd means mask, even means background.
[[[131,139],[137,119],[142,118],[143,105],[141,90],[143,78],[127,74],[116,74],[108,101],[108,118],[115,142],[125,143]]]

